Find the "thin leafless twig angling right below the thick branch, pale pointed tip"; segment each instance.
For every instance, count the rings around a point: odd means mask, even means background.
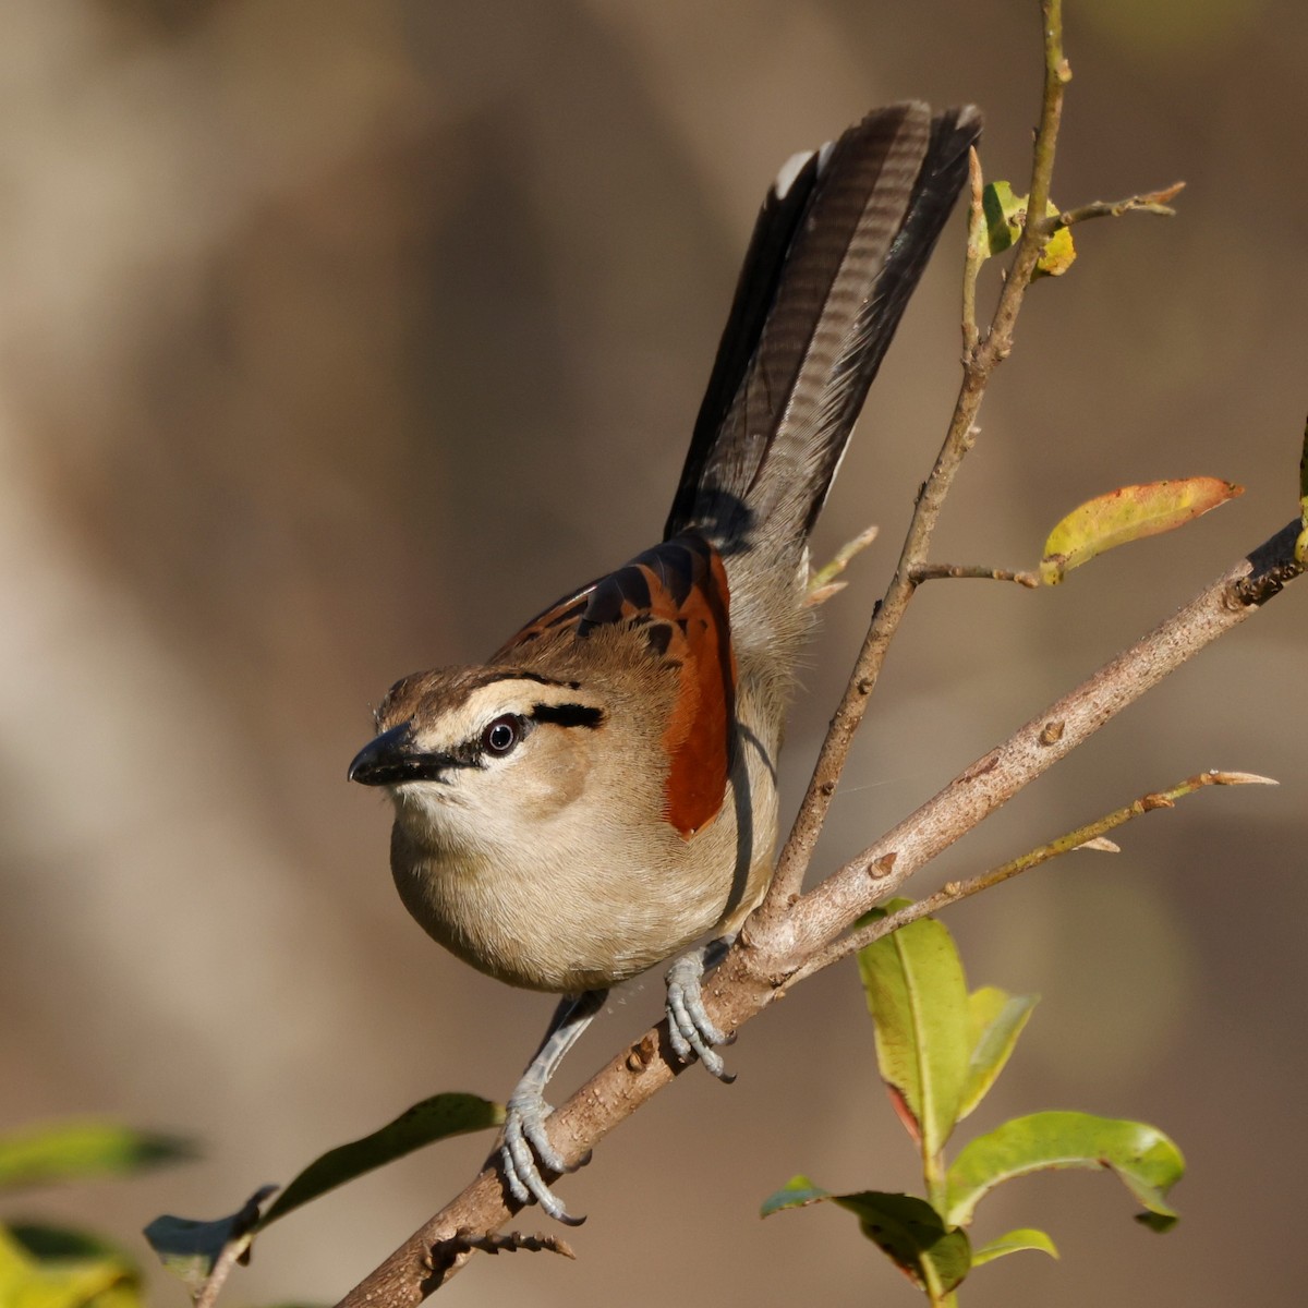
[[[1012,858],[1007,863],[1001,863],[998,867],[991,867],[989,871],[978,872],[976,876],[969,876],[961,882],[946,882],[934,895],[927,895],[926,899],[918,900],[916,904],[909,904],[875,922],[869,922],[867,926],[857,931],[850,931],[849,935],[833,940],[824,950],[819,950],[790,978],[790,984],[795,985],[814,976],[814,973],[829,968],[833,963],[849,957],[850,954],[857,954],[874,940],[897,931],[901,926],[908,926],[909,922],[916,922],[920,917],[938,913],[950,904],[956,904],[959,900],[978,895],[981,891],[988,891],[993,886],[998,886],[1016,876],[1019,872],[1039,867],[1041,863],[1046,863],[1052,858],[1058,858],[1061,854],[1070,854],[1074,850],[1093,846],[1103,841],[1107,832],[1114,831],[1117,827],[1122,827],[1133,819],[1143,814],[1151,814],[1158,808],[1172,808],[1177,799],[1193,795],[1196,790],[1202,790],[1205,786],[1274,785],[1277,782],[1271,777],[1260,777],[1252,772],[1201,772],[1172,786],[1171,790],[1158,790],[1147,795],[1141,795],[1139,799],[1126,804],[1126,807],[1105,814],[1103,818],[1087,823],[1084,827],[1078,827],[1075,831],[1070,831],[1066,836],[1059,836],[1046,845],[1040,845],[1037,849],[1032,849],[1019,858]],[[1113,852],[1117,849],[1112,841],[1103,841],[1097,848],[1109,848]]]

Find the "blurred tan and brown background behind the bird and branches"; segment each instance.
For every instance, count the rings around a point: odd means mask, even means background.
[[[1308,407],[1308,9],[1069,0],[1056,198],[1185,178],[1175,222],[1078,232],[1035,288],[937,557],[1033,564],[1100,490],[1243,500],[1048,594],[929,587],[821,862],[886,825],[1295,510]],[[443,955],[347,787],[402,674],[483,658],[658,535],[755,207],[869,106],[973,99],[1020,179],[1035,0],[29,0],[0,43],[0,1125],[112,1113],[205,1156],[29,1211],[213,1216],[437,1090],[502,1097],[551,1001]],[[821,523],[883,538],[827,611],[797,795],[956,386],[955,224]],[[988,285],[993,292],[993,273]],[[1290,1303],[1308,1135],[1298,589],[914,887],[1201,768],[1210,791],[948,922],[974,984],[1039,990],[974,1125],[1045,1107],[1185,1148],[1179,1230],[1108,1176],[1018,1182],[977,1231],[1063,1250],[969,1304]],[[654,1016],[647,978],[576,1083]],[[848,1215],[770,1219],[793,1172],[912,1188],[852,965],[795,991],[564,1186],[578,1264],[483,1260],[454,1301],[912,1303]],[[968,1124],[972,1127],[973,1122]],[[425,1152],[275,1230],[226,1301],[330,1300],[471,1175]],[[543,1223],[528,1215],[525,1230]],[[182,1303],[160,1278],[157,1300]]]

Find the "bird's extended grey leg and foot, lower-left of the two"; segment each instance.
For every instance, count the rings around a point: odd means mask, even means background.
[[[585,990],[582,994],[566,994],[559,1001],[545,1039],[509,1096],[504,1120],[500,1158],[509,1193],[519,1203],[535,1201],[549,1216],[565,1226],[581,1226],[586,1219],[570,1216],[562,1201],[540,1175],[542,1167],[560,1175],[574,1171],[549,1143],[545,1118],[553,1109],[545,1103],[544,1091],[549,1078],[559,1070],[564,1054],[590,1025],[607,995],[607,990]]]

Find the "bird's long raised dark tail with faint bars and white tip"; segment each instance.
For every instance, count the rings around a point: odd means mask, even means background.
[[[874,110],[782,167],[755,225],[666,539],[799,548],[967,179],[968,106]]]

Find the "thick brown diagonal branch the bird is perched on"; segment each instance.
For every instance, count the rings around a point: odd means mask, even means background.
[[[1294,562],[1296,518],[1154,632],[1080,687],[978,759],[913,818],[806,895],[773,922],[751,918],[739,946],[705,986],[709,1016],[738,1029],[772,1003],[810,959],[844,935],[854,920],[896,891],[929,858],[976,827],[1022,786],[1088,739],[1127,704],[1219,636],[1258,612],[1303,569]],[[1269,579],[1275,578],[1275,585]],[[621,1050],[549,1118],[549,1138],[578,1163],[625,1117],[683,1070],[664,1025]],[[433,1266],[430,1250],[459,1230],[489,1233],[518,1205],[505,1199],[496,1171],[483,1172],[424,1223],[343,1300],[343,1308],[400,1308],[420,1303],[470,1257]]]

